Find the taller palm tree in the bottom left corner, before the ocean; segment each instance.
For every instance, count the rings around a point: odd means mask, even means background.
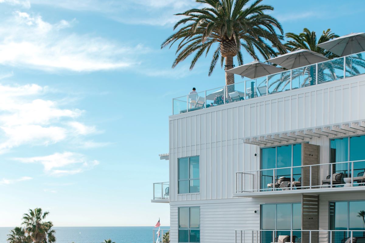
[[[41,208],[29,209],[29,213],[23,215],[25,232],[33,243],[53,243],[56,241],[53,223],[44,221],[49,212],[42,213]]]

